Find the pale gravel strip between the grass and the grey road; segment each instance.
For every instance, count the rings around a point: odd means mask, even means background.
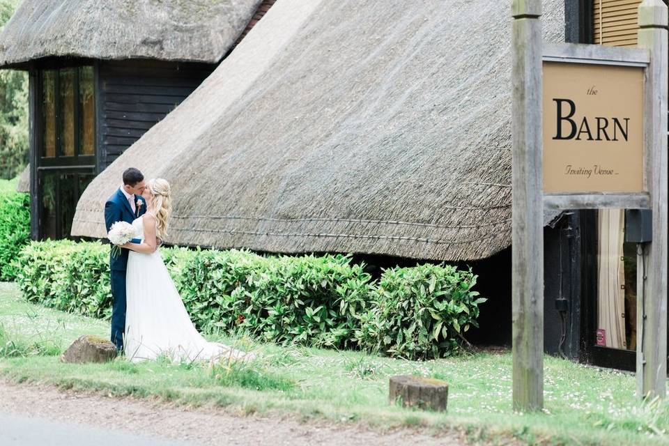
[[[433,437],[410,429],[380,433],[358,426],[236,417],[223,410],[185,409],[155,401],[106,398],[3,380],[0,380],[0,413],[180,440],[190,445],[465,445],[454,433]]]

